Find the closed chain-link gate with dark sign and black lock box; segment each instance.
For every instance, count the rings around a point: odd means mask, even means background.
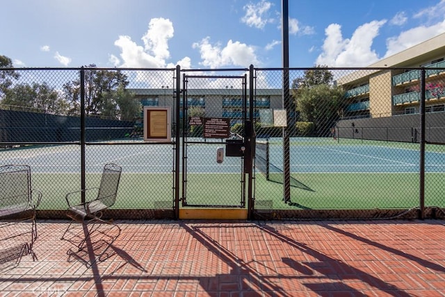
[[[245,208],[246,80],[183,74],[181,207]]]

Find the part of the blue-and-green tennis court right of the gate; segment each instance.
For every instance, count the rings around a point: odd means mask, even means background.
[[[282,151],[280,139],[269,138],[268,186],[259,182],[266,180],[266,174],[256,175],[257,199],[272,200],[273,208],[284,205],[280,196]],[[293,138],[290,154],[291,203],[287,207],[410,209],[419,206],[419,144]],[[443,147],[429,145],[425,159],[425,190],[426,204],[430,206],[444,205],[445,191],[437,182],[444,177],[444,165]],[[262,164],[258,166],[263,167]],[[270,184],[275,184],[275,188]]]

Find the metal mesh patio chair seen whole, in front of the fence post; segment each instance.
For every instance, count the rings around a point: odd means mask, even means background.
[[[122,167],[114,163],[108,163],[104,166],[99,188],[86,188],[85,190],[67,193],[65,196],[68,204],[67,216],[72,218],[72,221],[70,225],[68,225],[67,230],[65,230],[62,239],[66,239],[65,235],[70,231],[70,227],[74,221],[80,223],[97,222],[113,224],[113,219],[104,220],[102,219],[102,215],[106,209],[115,204],[121,173]],[[82,193],[85,193],[85,202],[81,202]],[[91,232],[92,231],[88,231],[85,238],[81,239],[78,244],[79,250]],[[71,241],[70,239],[67,240]]]

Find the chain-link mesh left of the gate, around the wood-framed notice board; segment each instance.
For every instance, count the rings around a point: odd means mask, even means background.
[[[97,187],[106,163],[124,168],[113,210],[127,218],[159,216],[156,209],[172,216],[175,144],[144,142],[142,130],[143,106],[175,111],[173,70],[13,71],[0,93],[0,158],[31,166],[44,192],[41,217],[65,217],[65,195]],[[134,212],[140,209],[151,211]]]

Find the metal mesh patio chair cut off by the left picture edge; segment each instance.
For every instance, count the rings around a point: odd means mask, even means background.
[[[31,188],[30,166],[0,166],[1,255],[6,255],[6,250],[21,250],[21,255],[33,254],[33,244],[37,239],[35,214],[41,199],[42,192]],[[19,227],[17,223],[27,220],[31,220],[31,243],[28,241],[17,243],[22,235],[28,236],[27,228]],[[16,246],[17,244],[19,246]]]

